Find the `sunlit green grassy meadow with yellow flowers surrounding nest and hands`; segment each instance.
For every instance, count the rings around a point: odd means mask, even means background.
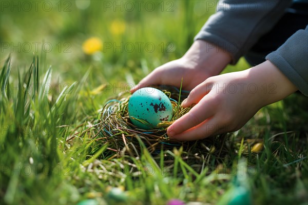
[[[300,93],[237,132],[157,153],[93,128],[109,99],[186,52],[216,1],[0,3],[1,204],[308,203]]]

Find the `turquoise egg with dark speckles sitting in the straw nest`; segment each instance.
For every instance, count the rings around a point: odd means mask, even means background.
[[[172,104],[168,96],[156,88],[141,88],[134,92],[128,102],[129,118],[133,125],[144,130],[150,130],[162,121],[172,118]],[[136,120],[145,120],[151,126]]]

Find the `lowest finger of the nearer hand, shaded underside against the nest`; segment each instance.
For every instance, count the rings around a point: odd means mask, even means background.
[[[213,117],[205,120],[201,124],[186,130],[180,134],[174,135],[170,138],[180,140],[180,141],[190,141],[197,139],[204,139],[206,137],[212,136],[219,133],[221,130],[219,126],[218,117]]]

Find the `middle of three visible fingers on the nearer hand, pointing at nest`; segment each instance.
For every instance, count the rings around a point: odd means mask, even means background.
[[[211,96],[204,96],[202,100],[191,110],[177,119],[172,125],[167,129],[167,134],[169,137],[180,134],[192,127],[195,127],[210,118],[215,114],[214,100]]]

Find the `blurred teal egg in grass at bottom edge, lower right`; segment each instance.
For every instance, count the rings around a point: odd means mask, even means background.
[[[244,187],[237,187],[232,192],[232,197],[230,197],[230,200],[228,202],[228,205],[250,205],[251,202],[251,196],[248,190],[246,190]]]

